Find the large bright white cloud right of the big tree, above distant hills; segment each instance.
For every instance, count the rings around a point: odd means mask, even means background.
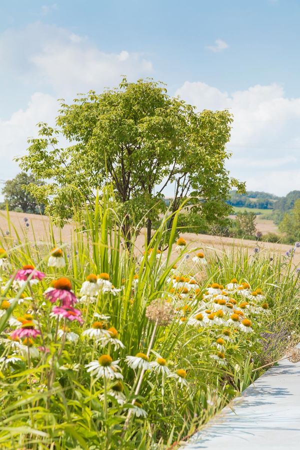
[[[227,166],[249,189],[279,195],[299,189],[300,98],[286,97],[276,83],[229,94],[185,81],[176,94],[198,110],[228,108],[233,113],[228,144],[233,155]]]

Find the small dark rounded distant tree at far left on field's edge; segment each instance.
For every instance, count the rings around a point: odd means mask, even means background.
[[[26,190],[26,186],[34,184],[37,187],[43,185],[43,181],[35,179],[34,175],[25,172],[18,173],[13,179],[5,181],[2,188],[4,203],[10,210],[22,212],[43,213],[44,205],[39,204],[34,196]]]

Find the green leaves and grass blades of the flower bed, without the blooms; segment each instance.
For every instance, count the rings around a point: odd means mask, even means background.
[[[281,260],[280,256],[274,256],[271,261],[267,252],[251,255],[244,248],[233,247],[229,253],[225,250],[209,253],[204,249],[207,265],[186,265],[192,258],[185,259],[184,256],[186,253],[194,255],[196,250],[184,248],[174,257],[169,245],[164,254],[157,252],[160,242],[167,243],[169,211],[161,218],[144,253],[133,247],[128,251],[123,248],[121,239],[122,217],[118,218],[111,207],[113,198],[107,195],[99,201],[97,194],[95,196],[95,207],[85,210],[85,226],[82,221],[77,224],[70,242],[49,239],[37,245],[37,242],[28,242],[25,232],[22,236],[16,235],[16,242],[11,234],[4,235],[0,241],[7,250],[10,264],[4,269],[0,266],[5,283],[1,300],[14,298],[0,317],[0,355],[4,357],[0,366],[0,445],[8,450],[22,447],[32,450],[169,448],[191,435],[242,391],[255,378],[261,365],[274,359],[272,352],[265,354],[264,344],[276,336],[278,324],[285,326],[288,334],[291,330],[296,331],[295,337],[298,337],[299,278],[291,258]],[[170,244],[176,231],[176,220],[177,214],[169,232]],[[9,228],[13,229],[13,225]],[[53,235],[51,229],[49,235]],[[66,265],[60,269],[47,266],[53,245],[59,245],[65,253]],[[46,277],[31,287],[27,282],[17,291],[12,287],[10,274],[25,263],[43,270]],[[176,274],[189,277],[199,270],[206,270],[197,281],[199,294],[183,298],[171,294],[168,278],[174,273],[174,263],[177,264]],[[45,300],[43,291],[53,278],[67,276],[74,293],[80,297],[82,281],[91,272],[109,273],[111,282],[117,287],[122,286],[122,290],[116,295],[100,292],[95,299],[81,297],[76,307],[83,312],[82,327],[76,321],[67,322],[70,330],[80,337],[73,342],[62,334],[58,339],[57,325],[64,322],[50,315],[53,305]],[[135,273],[137,279],[134,279]],[[250,314],[253,332],[243,333],[233,325],[194,327],[188,324],[195,311],[205,308],[207,299],[204,303],[201,294],[206,292],[208,284],[215,281],[225,285],[233,276],[239,282],[250,283],[252,289],[260,287],[263,290],[264,298],[249,300],[251,307],[258,308],[259,320],[256,312],[244,311]],[[236,292],[230,296],[236,298],[238,306],[244,301],[244,296],[241,299]],[[168,299],[179,307],[179,311],[166,326],[159,326],[153,333],[154,324],[145,313],[149,303],[156,298]],[[19,299],[22,299],[20,303]],[[260,304],[265,301],[270,308],[262,311]],[[185,305],[190,310],[183,308]],[[11,319],[11,314],[16,318],[28,310],[34,311],[34,318],[38,319],[36,327],[42,332],[42,337],[37,337],[33,346],[41,345],[43,339],[49,352],[28,358],[30,352],[26,348],[21,360],[4,364],[7,355],[18,351],[17,347],[11,349],[11,340],[5,339],[11,331],[7,319]],[[104,322],[118,330],[125,348],[115,349],[110,344],[101,347],[99,342],[82,336],[82,331],[97,317],[94,313],[109,316]],[[180,317],[187,320],[181,321]],[[231,330],[230,339],[224,342],[225,366],[210,357],[218,351],[215,340],[224,326]],[[264,331],[265,335],[262,334]],[[154,361],[160,354],[167,360],[171,372],[186,369],[187,386],[147,370],[138,394],[134,395],[140,371],[126,367],[124,358],[137,351],[145,353],[151,336],[154,338],[150,359]],[[285,336],[284,341],[277,343],[276,352],[280,347],[280,354],[283,353],[284,345]],[[118,404],[108,393],[114,380],[104,382],[86,372],[85,364],[96,360],[101,353],[111,354],[114,360],[120,359],[124,404]],[[127,408],[135,397],[142,403],[147,417],[131,416],[124,429]]]

